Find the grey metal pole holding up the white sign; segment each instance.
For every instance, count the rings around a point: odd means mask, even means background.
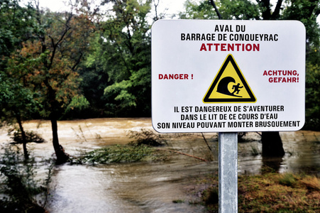
[[[219,133],[219,212],[238,212],[238,133]]]

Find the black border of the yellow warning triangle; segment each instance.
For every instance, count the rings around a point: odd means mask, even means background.
[[[228,63],[231,62],[234,69],[236,70],[236,73],[238,77],[240,77],[240,80],[243,82],[243,86],[245,87],[246,91],[248,92],[250,98],[230,98],[230,99],[210,99],[210,95],[212,91],[214,90],[214,87],[216,87],[216,84],[219,82],[221,75],[224,73],[224,70],[226,70],[226,66]],[[238,65],[236,64],[236,61],[233,59],[233,56],[229,54],[222,65],[222,67],[219,70],[218,75],[216,75],[216,78],[214,79],[214,82],[211,84],[211,87],[209,88],[208,92],[206,92],[206,95],[204,96],[203,102],[204,103],[235,103],[235,102],[256,102],[257,99],[255,99],[255,95],[251,91],[250,87],[248,86],[247,81],[243,77],[243,74],[241,73],[241,70],[239,70]]]

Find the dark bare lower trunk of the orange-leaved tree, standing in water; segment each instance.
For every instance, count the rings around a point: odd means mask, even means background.
[[[55,155],[57,156],[56,164],[66,163],[69,159],[69,155],[65,153],[63,147],[59,144],[59,138],[57,137],[57,119],[54,116],[50,116],[51,126],[53,129],[53,148],[55,148]]]

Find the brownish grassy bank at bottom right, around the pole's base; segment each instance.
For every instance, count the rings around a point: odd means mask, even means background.
[[[208,212],[219,212],[217,175],[204,178]],[[238,212],[320,212],[320,179],[310,175],[267,173],[238,178]]]

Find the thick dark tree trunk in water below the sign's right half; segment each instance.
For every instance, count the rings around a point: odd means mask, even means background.
[[[282,157],[285,155],[278,131],[263,131],[261,142],[263,143],[263,156]]]

